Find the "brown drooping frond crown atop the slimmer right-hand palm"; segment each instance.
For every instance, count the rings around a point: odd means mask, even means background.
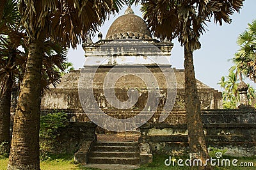
[[[207,31],[207,22],[212,17],[216,23],[230,23],[230,15],[243,6],[243,0],[129,1],[130,4],[138,2],[154,36],[161,40],[178,38],[180,44],[191,51],[200,49],[199,38]]]

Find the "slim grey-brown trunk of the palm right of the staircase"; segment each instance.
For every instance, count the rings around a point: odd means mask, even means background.
[[[186,49],[186,45],[184,46],[185,107],[188,123],[189,156],[191,160],[200,158],[204,164],[205,160],[209,158],[209,154],[205,144],[200,100],[196,87],[193,52]]]

